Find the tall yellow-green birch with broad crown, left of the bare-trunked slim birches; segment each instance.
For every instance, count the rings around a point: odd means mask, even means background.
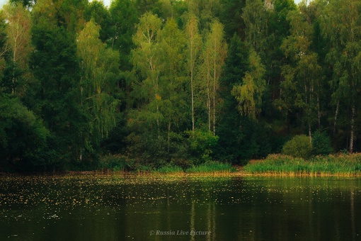
[[[161,158],[159,155],[163,154],[158,155],[156,152],[164,151],[162,148],[164,138],[161,135],[161,122],[164,117],[160,111],[162,96],[159,84],[162,62],[158,40],[161,26],[160,18],[145,13],[140,18],[137,32],[133,36],[136,48],[132,50],[132,62],[137,81],[132,84],[132,95],[136,100],[137,109],[130,111],[127,123],[133,131],[128,136],[130,148],[135,148],[138,153],[144,153],[144,149],[147,148],[145,143],[148,142],[149,151],[154,158]]]

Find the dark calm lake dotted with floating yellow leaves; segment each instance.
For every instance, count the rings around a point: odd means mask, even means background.
[[[361,179],[0,176],[0,240],[360,240]]]

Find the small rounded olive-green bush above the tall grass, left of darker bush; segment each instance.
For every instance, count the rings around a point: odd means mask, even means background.
[[[283,145],[282,154],[308,159],[312,155],[312,145],[306,135],[295,135]]]

